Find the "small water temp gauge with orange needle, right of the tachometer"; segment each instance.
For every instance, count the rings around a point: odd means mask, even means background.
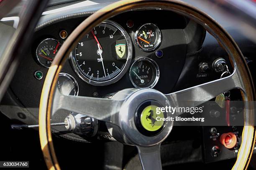
[[[161,31],[154,24],[144,24],[136,31],[135,41],[141,50],[146,52],[153,51],[161,43]]]

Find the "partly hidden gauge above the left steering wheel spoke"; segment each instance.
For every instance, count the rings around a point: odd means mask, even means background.
[[[77,81],[71,75],[67,73],[59,73],[59,79],[57,81],[57,88],[63,95],[78,95]]]

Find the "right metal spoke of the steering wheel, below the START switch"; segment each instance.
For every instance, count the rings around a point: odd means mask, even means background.
[[[166,97],[170,102],[175,102],[174,104],[179,107],[184,107],[184,105],[186,105],[186,107],[189,107],[189,105],[196,107],[206,101],[211,100],[221,93],[235,88],[239,88],[245,92],[240,73],[236,67],[234,72],[228,77],[166,94]]]

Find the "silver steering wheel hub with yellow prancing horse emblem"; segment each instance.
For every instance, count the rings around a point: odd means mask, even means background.
[[[124,100],[118,117],[122,136],[127,144],[152,146],[161,143],[172,130],[173,122],[162,121],[166,117],[160,107],[169,106],[166,96],[154,89],[125,89],[116,93],[114,100]]]

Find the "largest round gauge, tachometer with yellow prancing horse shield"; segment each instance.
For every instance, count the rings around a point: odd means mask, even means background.
[[[118,81],[131,62],[131,39],[120,25],[106,21],[97,25],[75,46],[74,70],[92,85]]]

